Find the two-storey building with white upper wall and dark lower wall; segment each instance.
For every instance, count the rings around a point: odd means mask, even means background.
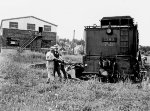
[[[57,25],[34,16],[3,19],[1,47],[39,50],[56,44]]]

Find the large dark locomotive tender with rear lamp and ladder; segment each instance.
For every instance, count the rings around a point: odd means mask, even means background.
[[[130,16],[103,17],[101,25],[85,26],[84,72],[102,81],[140,80],[137,24]]]

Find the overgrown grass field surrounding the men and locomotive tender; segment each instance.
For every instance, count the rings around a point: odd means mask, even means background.
[[[0,55],[0,111],[150,111],[150,90],[138,84],[104,84],[96,80],[46,84],[45,55],[27,51]],[[81,61],[81,56],[64,56]]]

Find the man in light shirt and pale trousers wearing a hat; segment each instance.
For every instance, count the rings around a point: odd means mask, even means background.
[[[54,80],[54,60],[56,57],[54,56],[54,47],[50,48],[50,51],[46,53],[46,68],[48,73],[48,79],[47,83],[50,82],[50,80]]]

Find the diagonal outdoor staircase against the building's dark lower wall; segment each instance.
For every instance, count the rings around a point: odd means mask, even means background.
[[[39,37],[38,35],[33,36],[31,39],[27,40],[25,43],[23,43],[20,47],[19,47],[19,52],[22,52],[28,45],[30,45],[37,37]]]

